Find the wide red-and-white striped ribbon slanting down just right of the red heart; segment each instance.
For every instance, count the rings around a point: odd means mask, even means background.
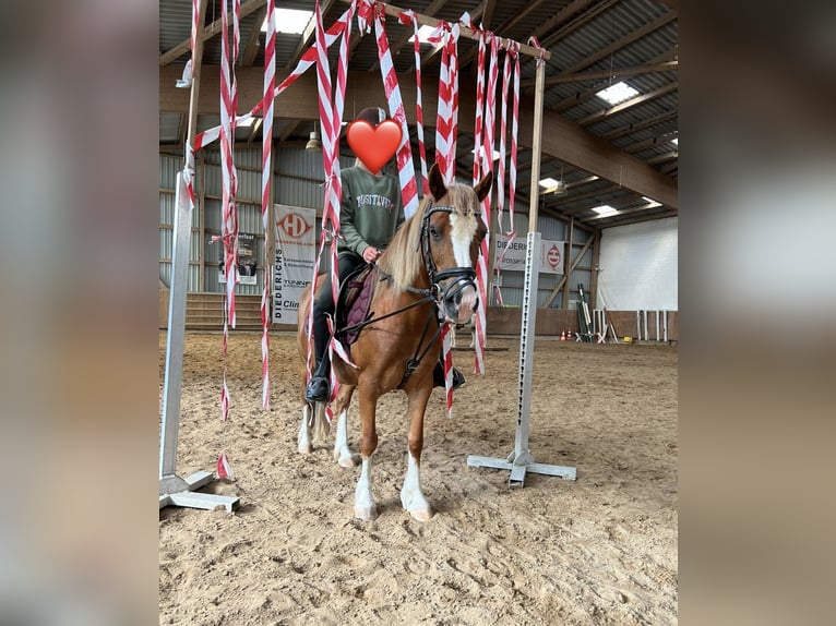
[[[368,2],[368,0],[363,0]],[[374,35],[378,40],[378,59],[380,73],[383,79],[383,91],[386,94],[390,118],[401,125],[401,143],[397,146],[397,176],[401,181],[401,200],[404,205],[404,216],[408,219],[418,210],[418,182],[415,179],[413,148],[409,144],[409,128],[406,125],[404,100],[401,97],[401,86],[397,83],[395,65],[392,62],[392,50],[386,37],[383,4],[374,3]]]

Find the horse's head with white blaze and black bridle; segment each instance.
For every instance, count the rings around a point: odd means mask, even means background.
[[[476,188],[444,183],[438,165],[430,170],[429,202],[421,221],[421,254],[430,285],[438,290],[446,320],[464,324],[479,306],[476,263],[487,228],[479,203],[490,193],[492,172]]]

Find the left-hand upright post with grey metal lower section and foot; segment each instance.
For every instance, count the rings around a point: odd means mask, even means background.
[[[206,0],[200,0],[199,13],[204,14]],[[195,38],[192,60],[192,84],[189,98],[189,129],[184,146],[184,162],[189,164],[188,151],[194,142],[198,125],[198,97],[200,93],[201,57],[203,37]],[[198,471],[189,477],[177,474],[177,437],[180,428],[180,394],[183,376],[183,345],[186,336],[186,297],[189,291],[189,245],[191,243],[191,205],[181,201],[181,179],[178,174],[175,196],[174,249],[171,251],[171,284],[168,299],[168,332],[166,334],[166,375],[163,384],[163,426],[159,437],[159,508],[186,506],[214,510],[223,507],[231,513],[238,497],[196,493],[208,484],[215,474]]]

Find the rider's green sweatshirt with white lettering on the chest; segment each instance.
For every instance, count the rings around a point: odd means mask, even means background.
[[[374,176],[359,166],[341,173],[343,203],[337,250],[360,256],[369,245],[384,250],[404,222],[397,178],[383,172]]]

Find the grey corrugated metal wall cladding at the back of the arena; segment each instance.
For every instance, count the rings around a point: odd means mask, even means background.
[[[261,220],[261,148],[236,149],[236,167],[238,168],[238,225],[240,232],[255,234],[255,254],[259,260],[258,284],[239,285],[238,293],[260,294],[264,280],[264,229]],[[322,213],[324,188],[322,185],[322,159],[319,153],[308,153],[303,148],[282,148],[274,153],[274,201],[276,204],[314,208]],[[346,168],[354,165],[354,158],[341,157],[341,166]],[[177,156],[159,156],[159,277],[170,284],[171,277],[171,244],[174,239],[175,216],[175,183],[177,172],[182,167],[182,158]],[[220,234],[222,174],[220,155],[217,151],[203,151],[199,155],[198,172],[195,176],[195,196],[198,206],[192,215],[192,237],[189,266],[189,291],[206,291],[219,293],[223,284],[218,281],[218,262],[220,260],[220,243],[212,243],[212,238]],[[201,210],[204,219],[201,228]],[[503,216],[503,228],[509,228],[507,213]],[[565,241],[568,226],[548,216],[540,216],[539,229],[542,239]],[[319,241],[321,225],[317,225],[317,241]],[[517,213],[514,216],[514,229],[517,238],[525,239],[528,231],[528,216]],[[498,232],[494,213],[491,232]],[[201,234],[202,233],[202,234]],[[202,237],[202,240],[201,240]],[[592,237],[586,231],[575,229],[575,241],[570,255],[574,262],[577,253]],[[492,251],[493,248],[491,246]],[[592,248],[584,254],[578,268],[572,273],[569,287],[575,299],[574,291],[582,282],[589,289],[592,266]],[[327,270],[330,260],[327,254],[321,258],[321,268]],[[202,274],[202,276],[201,276]],[[523,301],[523,272],[505,270],[502,273],[502,299],[505,305],[521,306]],[[560,282],[561,274],[540,274],[537,302],[545,303],[554,287]],[[491,299],[491,303],[495,304]],[[552,308],[562,305],[562,290],[552,302]]]

